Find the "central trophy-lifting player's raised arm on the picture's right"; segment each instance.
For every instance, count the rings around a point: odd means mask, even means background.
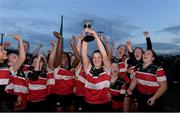
[[[111,61],[106,53],[106,50],[104,48],[104,45],[102,43],[102,41],[100,40],[100,38],[98,37],[98,35],[96,34],[95,31],[91,30],[91,29],[88,29],[86,28],[85,29],[85,32],[89,32],[91,33],[94,37],[95,37],[95,40],[97,42],[97,45],[98,45],[98,48],[99,48],[99,51],[103,57],[103,63],[104,63],[104,66],[109,69],[109,67],[111,67]]]

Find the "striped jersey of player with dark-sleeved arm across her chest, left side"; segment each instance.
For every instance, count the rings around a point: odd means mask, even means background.
[[[39,76],[38,80],[28,80],[28,100],[38,102],[45,100],[47,97],[47,78]]]

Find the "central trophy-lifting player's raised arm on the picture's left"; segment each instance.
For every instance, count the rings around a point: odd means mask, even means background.
[[[84,70],[87,70],[87,68],[90,65],[89,57],[88,57],[88,43],[83,41],[82,42],[82,62]]]

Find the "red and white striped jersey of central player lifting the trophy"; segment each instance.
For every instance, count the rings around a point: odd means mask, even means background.
[[[90,104],[103,104],[111,101],[110,71],[101,68],[98,75],[93,75],[92,65],[86,71],[85,100]]]

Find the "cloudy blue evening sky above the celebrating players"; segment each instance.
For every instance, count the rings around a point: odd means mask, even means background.
[[[11,34],[17,33],[32,50],[41,43],[46,51],[50,40],[56,40],[52,32],[59,31],[61,15],[66,50],[71,35],[83,30],[83,19],[93,19],[92,28],[116,45],[128,39],[144,43],[142,32],[149,31],[156,49],[164,50],[165,43],[167,49],[180,51],[180,0],[0,0],[0,33],[7,33],[5,40],[14,47]]]

